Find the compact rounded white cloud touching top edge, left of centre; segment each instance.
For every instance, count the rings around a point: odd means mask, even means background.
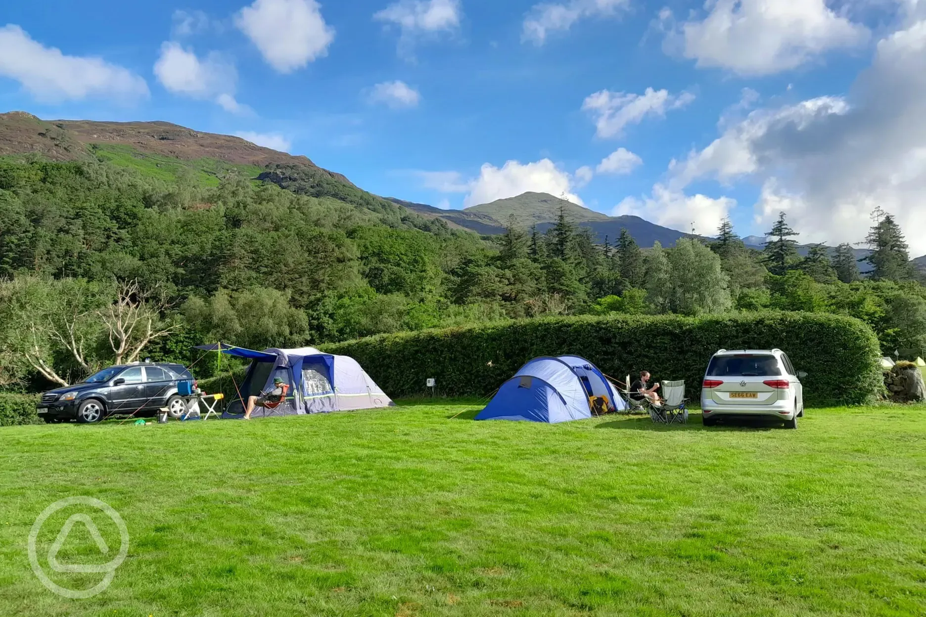
[[[281,73],[328,55],[334,29],[315,0],[255,0],[234,18],[267,63]]]

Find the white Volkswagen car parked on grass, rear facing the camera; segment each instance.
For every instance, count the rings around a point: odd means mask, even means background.
[[[721,416],[774,416],[797,428],[804,415],[807,373],[795,371],[780,349],[720,350],[711,357],[701,389],[704,426]]]

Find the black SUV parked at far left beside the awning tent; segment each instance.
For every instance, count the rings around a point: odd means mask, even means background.
[[[177,396],[180,381],[193,381],[181,364],[120,364],[79,384],[45,392],[36,407],[47,423],[76,419],[93,424],[110,415],[151,415],[162,407],[177,418],[185,411]]]

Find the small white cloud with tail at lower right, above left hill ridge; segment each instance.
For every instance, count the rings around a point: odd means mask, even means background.
[[[213,101],[232,113],[250,112],[234,98],[238,72],[231,61],[217,52],[200,59],[193,49],[183,49],[180,43],[173,41],[165,42],[161,44],[161,55],[154,70],[157,80],[171,93]]]

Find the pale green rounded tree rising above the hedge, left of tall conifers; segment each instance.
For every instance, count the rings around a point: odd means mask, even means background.
[[[720,257],[701,242],[682,238],[667,251],[672,268],[671,309],[682,315],[724,313],[732,307],[730,279]]]

